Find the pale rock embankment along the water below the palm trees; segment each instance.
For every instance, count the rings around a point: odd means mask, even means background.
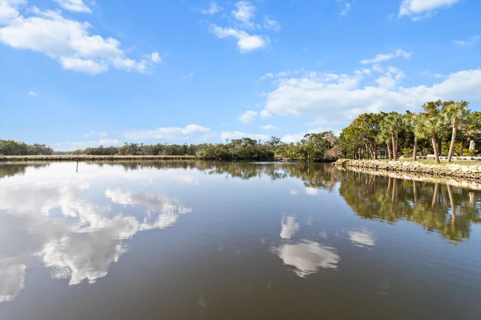
[[[385,171],[423,173],[443,177],[457,177],[481,181],[481,165],[425,164],[418,161],[382,161],[339,159],[333,163],[338,167],[370,168]]]

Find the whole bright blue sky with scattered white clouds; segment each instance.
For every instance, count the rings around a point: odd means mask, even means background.
[[[481,110],[481,1],[0,1],[0,136],[56,150],[297,141]]]

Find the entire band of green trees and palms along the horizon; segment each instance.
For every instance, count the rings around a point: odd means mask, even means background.
[[[304,135],[297,143],[284,143],[272,136],[262,142],[251,138],[232,139],[226,143],[168,145],[157,143],[125,143],[120,147],[78,149],[69,154],[80,155],[163,155],[198,156],[203,159],[283,159],[303,161],[335,160],[339,158],[376,159],[376,150],[388,150],[389,159],[435,154],[454,153],[475,155],[469,150],[470,140],[481,146],[481,112],[471,112],[468,102],[431,101],[425,103],[423,112],[404,114],[363,113],[342,129],[339,136],[332,131]],[[1,155],[49,155],[57,154],[46,145],[27,145],[24,142],[0,139]],[[62,152],[65,154],[66,152]]]

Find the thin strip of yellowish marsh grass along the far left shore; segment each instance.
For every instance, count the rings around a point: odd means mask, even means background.
[[[182,160],[199,159],[197,156],[87,156],[87,155],[49,155],[49,156],[0,156],[0,161],[72,161],[72,160]]]

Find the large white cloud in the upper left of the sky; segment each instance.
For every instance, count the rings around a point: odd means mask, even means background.
[[[60,10],[41,11],[34,6],[28,9],[31,16],[24,17],[18,12],[21,3],[0,1],[1,23],[5,25],[0,28],[0,41],[15,49],[41,52],[57,60],[63,69],[99,74],[113,66],[150,73],[161,61],[158,52],[144,55],[139,61],[127,58],[117,39],[90,34],[92,25],[66,19]]]

